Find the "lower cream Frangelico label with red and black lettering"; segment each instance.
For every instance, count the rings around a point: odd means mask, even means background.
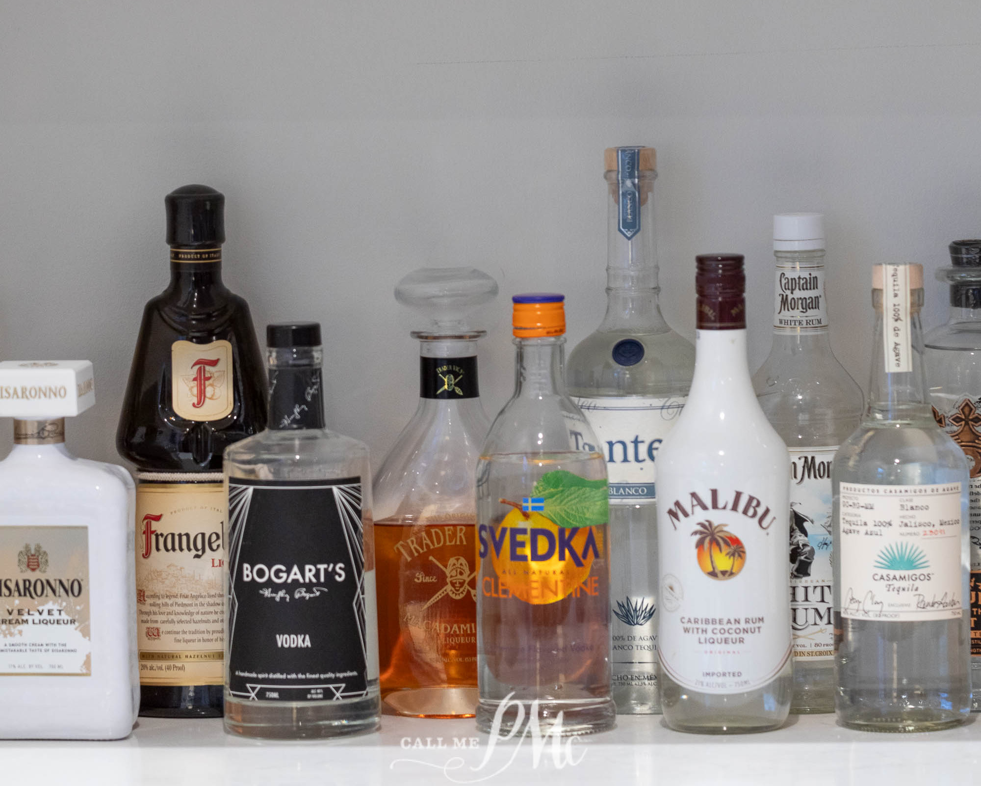
[[[136,633],[143,685],[223,684],[225,522],[222,483],[140,477]]]

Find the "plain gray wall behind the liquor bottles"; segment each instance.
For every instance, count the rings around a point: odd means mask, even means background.
[[[232,289],[260,328],[324,323],[328,418],[377,466],[416,404],[394,282],[497,277],[492,415],[511,294],[566,293],[571,344],[598,323],[602,149],[645,143],[668,320],[694,337],[696,253],[746,253],[759,365],[770,216],[821,210],[832,342],[864,385],[870,266],[922,262],[932,326],[948,242],[981,235],[979,30],[976,0],[0,0],[0,357],[92,360],[69,440],[115,461],[163,197],[204,183]]]

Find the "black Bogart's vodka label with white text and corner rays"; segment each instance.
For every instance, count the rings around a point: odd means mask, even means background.
[[[232,695],[322,702],[367,693],[361,478],[229,480]]]

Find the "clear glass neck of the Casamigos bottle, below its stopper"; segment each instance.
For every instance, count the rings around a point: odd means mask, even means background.
[[[909,291],[907,309],[889,308],[883,318],[883,291],[872,290],[875,330],[866,419],[873,421],[933,421],[927,403],[923,368],[920,309],[923,290]]]

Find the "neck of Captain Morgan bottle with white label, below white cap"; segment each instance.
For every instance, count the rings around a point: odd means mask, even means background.
[[[797,349],[828,347],[824,294],[824,250],[774,252],[773,345]]]

